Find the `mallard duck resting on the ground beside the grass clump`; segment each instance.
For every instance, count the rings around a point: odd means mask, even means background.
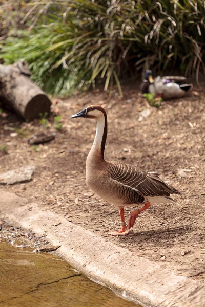
[[[180,98],[193,87],[191,83],[185,83],[185,80],[185,77],[179,76],[157,76],[153,79],[152,71],[146,70],[141,91],[143,94],[154,93],[156,98],[161,97],[164,100]]]

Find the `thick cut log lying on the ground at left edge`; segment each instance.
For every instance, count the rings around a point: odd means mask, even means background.
[[[47,95],[29,79],[30,75],[25,61],[7,66],[0,64],[0,102],[26,120],[49,112],[51,106]]]

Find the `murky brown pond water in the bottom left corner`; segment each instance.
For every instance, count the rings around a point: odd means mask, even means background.
[[[66,261],[0,242],[1,307],[140,307],[90,281]]]

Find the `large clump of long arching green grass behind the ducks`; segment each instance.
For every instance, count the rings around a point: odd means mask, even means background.
[[[205,71],[202,0],[33,2],[31,28],[2,42],[6,64],[24,59],[47,93],[67,95],[115,83],[154,66]],[[35,22],[34,22],[35,21]],[[37,23],[36,23],[37,21]]]

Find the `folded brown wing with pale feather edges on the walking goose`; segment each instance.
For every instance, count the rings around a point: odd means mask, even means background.
[[[157,172],[145,172],[138,167],[121,162],[110,162],[108,171],[113,180],[135,189],[141,196],[180,194],[175,188],[163,182]]]

